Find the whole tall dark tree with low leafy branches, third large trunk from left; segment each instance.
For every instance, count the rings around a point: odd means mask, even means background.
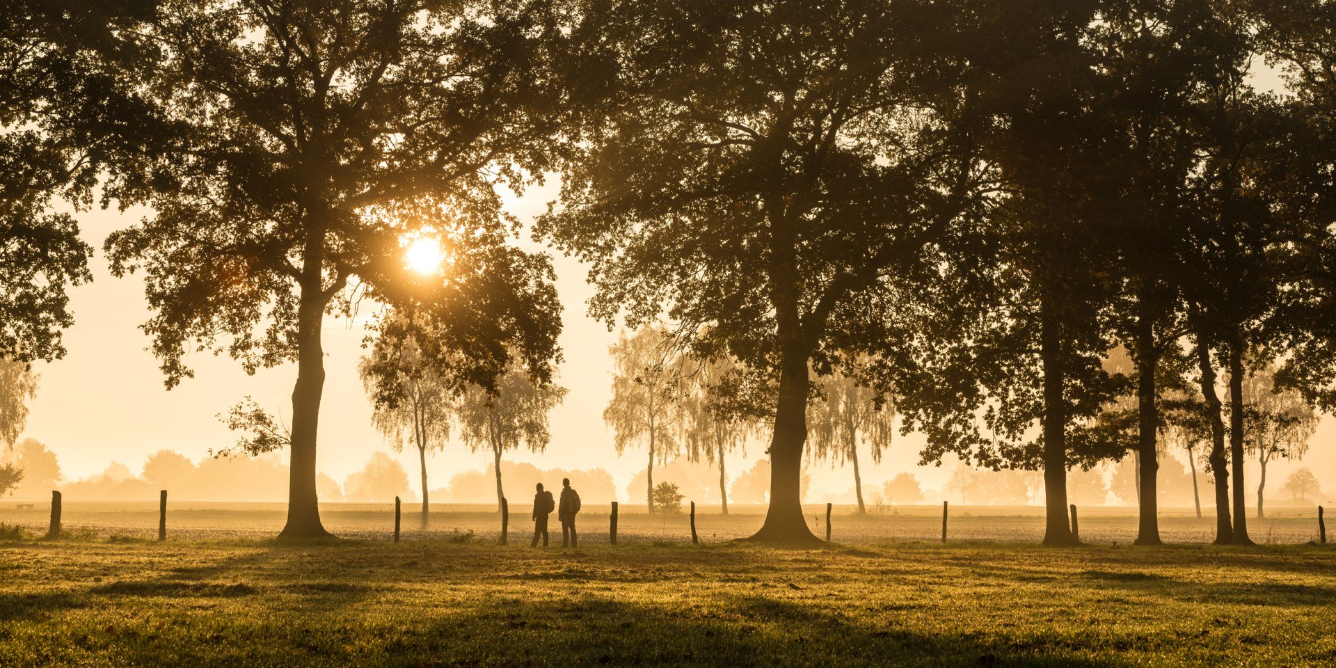
[[[1088,48],[1097,3],[977,3],[966,41],[989,119],[985,155],[997,207],[974,281],[939,291],[930,325],[912,322],[912,378],[896,383],[907,425],[927,434],[925,461],[946,453],[989,468],[1042,469],[1046,545],[1075,542],[1066,473],[1114,456],[1088,425],[1120,378],[1100,361],[1113,282],[1094,230],[1114,207],[1110,130]],[[930,333],[930,334],[926,334]],[[941,345],[942,341],[969,342]],[[894,359],[894,355],[892,355]]]

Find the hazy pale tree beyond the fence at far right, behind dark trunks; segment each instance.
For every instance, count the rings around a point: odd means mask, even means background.
[[[1317,430],[1317,413],[1293,389],[1276,387],[1276,367],[1259,365],[1242,379],[1244,444],[1257,456],[1261,473],[1257,476],[1257,517],[1265,517],[1263,508],[1267,489],[1267,464],[1284,457],[1303,460],[1308,440]]]

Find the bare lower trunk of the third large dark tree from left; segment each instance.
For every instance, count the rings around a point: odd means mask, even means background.
[[[1043,544],[1075,545],[1067,521],[1066,397],[1062,337],[1054,307],[1042,298],[1039,357],[1043,362]]]

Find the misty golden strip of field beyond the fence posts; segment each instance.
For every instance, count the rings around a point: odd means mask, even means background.
[[[20,506],[28,506],[23,508]],[[472,532],[478,540],[497,540],[501,516],[492,504],[433,504],[426,528],[421,505],[405,501],[402,540],[438,540]],[[826,536],[826,506],[804,506],[807,524],[816,536]],[[510,504],[510,541],[528,540],[533,532],[526,504]],[[0,500],[0,522],[21,525],[31,534],[45,533],[49,500]],[[325,526],[341,537],[391,540],[394,504],[322,504]],[[275,536],[286,517],[285,504],[172,501],[167,504],[170,540],[232,540]],[[697,505],[696,532],[701,542],[723,542],[751,536],[760,528],[764,506]],[[158,537],[158,501],[64,500],[61,524],[67,532],[88,536]],[[609,506],[587,504],[578,516],[580,537],[587,544],[608,542]],[[1268,517],[1248,518],[1249,533],[1260,544],[1304,544],[1319,540],[1317,508],[1276,508]],[[1192,509],[1166,508],[1160,513],[1160,534],[1165,542],[1210,542],[1214,517],[1197,518]],[[854,506],[836,505],[831,517],[831,538],[844,544],[895,541],[939,541],[942,506],[895,506],[858,516]],[[1130,544],[1137,533],[1134,508],[1090,506],[1079,509],[1081,538],[1097,544]],[[552,518],[552,533],[560,542],[560,525]],[[949,540],[1038,542],[1043,537],[1043,509],[1037,506],[950,506]],[[619,542],[691,542],[689,518],[683,513],[647,514],[645,506],[620,504]]]

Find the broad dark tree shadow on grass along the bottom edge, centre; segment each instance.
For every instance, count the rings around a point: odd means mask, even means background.
[[[874,628],[815,605],[741,596],[720,609],[636,604],[605,595],[480,604],[430,621],[390,661],[422,665],[1102,667],[995,647],[965,633]]]

